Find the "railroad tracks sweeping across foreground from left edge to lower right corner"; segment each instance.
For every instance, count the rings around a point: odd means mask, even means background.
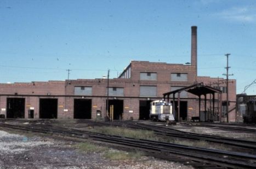
[[[183,162],[196,168],[255,168],[256,156],[230,151],[196,148],[186,145],[150,141],[145,139],[134,139],[103,133],[67,129],[49,124],[27,124],[10,125],[0,123],[1,127],[8,127],[15,130],[26,130],[40,133],[51,133],[55,135],[76,137],[82,139],[93,139],[104,143],[121,145],[126,148],[143,150],[147,154],[157,158],[170,161]]]

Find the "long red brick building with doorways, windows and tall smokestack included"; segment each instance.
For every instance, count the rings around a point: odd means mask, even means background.
[[[0,84],[1,113],[7,118],[95,119],[106,115],[107,100],[113,105],[114,119],[149,119],[150,102],[163,93],[203,82],[225,93],[224,79],[197,76],[197,27],[191,27],[191,63],[189,65],[132,61],[115,79],[77,79],[32,83]],[[236,80],[229,83],[230,121],[236,115]],[[107,88],[109,86],[109,88]],[[109,89],[109,97],[107,97]],[[209,99],[211,96],[207,96]],[[215,96],[218,101],[220,97]],[[215,104],[218,104],[216,102]],[[177,104],[175,104],[177,105]],[[218,104],[218,120],[225,120],[225,95]],[[207,109],[212,103],[207,102]],[[198,116],[198,98],[181,92],[180,117]],[[203,106],[201,110],[204,110]],[[219,113],[221,112],[221,113]],[[218,116],[219,118],[219,116]]]

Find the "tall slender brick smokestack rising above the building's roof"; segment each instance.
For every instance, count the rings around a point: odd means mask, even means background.
[[[191,26],[191,65],[196,68],[197,76],[197,27]]]

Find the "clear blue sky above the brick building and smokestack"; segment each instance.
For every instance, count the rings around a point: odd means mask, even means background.
[[[0,83],[116,78],[130,60],[190,62],[198,75],[230,78],[237,94],[256,79],[256,1],[1,0]],[[247,89],[256,95],[256,85]]]

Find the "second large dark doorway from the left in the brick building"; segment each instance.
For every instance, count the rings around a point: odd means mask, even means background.
[[[41,119],[58,118],[58,99],[57,98],[40,98],[39,118]]]

